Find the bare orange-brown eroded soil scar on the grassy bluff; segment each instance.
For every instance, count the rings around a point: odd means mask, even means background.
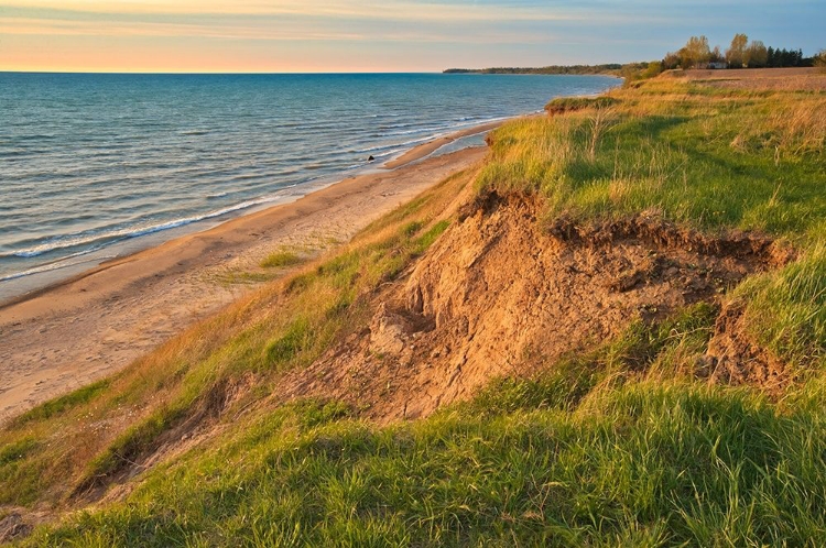
[[[768,239],[709,239],[646,215],[542,229],[537,211],[532,199],[496,195],[461,208],[461,222],[373,297],[370,326],[289,375],[275,397],[343,399],[378,423],[426,416],[493,376],[530,373],[536,357],[553,361],[634,318],[714,300],[791,257]],[[737,359],[721,354],[719,363]]]

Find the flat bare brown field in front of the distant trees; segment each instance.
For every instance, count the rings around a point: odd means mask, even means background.
[[[685,70],[673,76],[702,80],[713,86],[737,89],[825,91],[826,73],[817,68],[745,68]]]

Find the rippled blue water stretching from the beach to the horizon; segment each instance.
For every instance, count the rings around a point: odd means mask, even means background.
[[[302,194],[599,76],[0,74],[0,289]],[[1,292],[0,292],[1,293]],[[7,292],[8,293],[8,292]]]

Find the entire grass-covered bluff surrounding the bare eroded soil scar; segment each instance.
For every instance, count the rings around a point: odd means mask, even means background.
[[[610,98],[502,127],[479,169],[18,417],[0,519],[24,546],[826,544],[826,94],[653,79]],[[534,347],[528,374],[420,420],[280,397],[491,193],[529,196],[548,231],[645,212],[793,259],[562,359]],[[732,308],[772,390],[697,373]]]

